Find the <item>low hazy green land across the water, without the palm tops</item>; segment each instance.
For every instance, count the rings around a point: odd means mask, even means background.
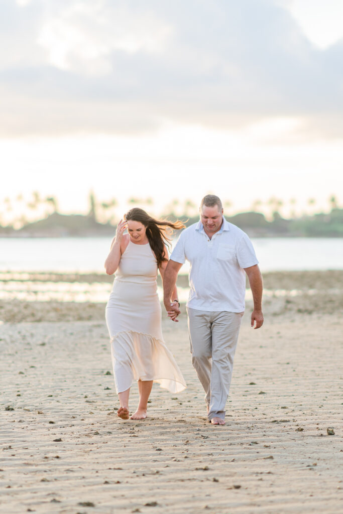
[[[171,221],[175,214],[168,216]],[[227,221],[240,227],[250,237],[342,237],[343,209],[333,208],[330,213],[318,213],[285,219],[278,212],[272,221],[264,214],[250,211],[225,216]],[[186,226],[196,223],[198,216],[178,216]],[[0,237],[96,237],[114,236],[116,224],[100,223],[94,212],[87,215],[53,212],[44,219],[24,224],[19,229],[0,225]]]

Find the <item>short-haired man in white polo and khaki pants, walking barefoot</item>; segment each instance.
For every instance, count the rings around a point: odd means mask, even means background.
[[[177,273],[187,259],[192,363],[205,390],[208,420],[225,425],[225,403],[245,307],[245,273],[254,298],[251,326],[255,328],[263,324],[262,276],[248,236],[226,221],[218,196],[202,199],[200,217],[200,222],[180,234],[170,256],[163,279],[164,303],[169,316],[180,313],[177,302],[171,304],[170,298]]]

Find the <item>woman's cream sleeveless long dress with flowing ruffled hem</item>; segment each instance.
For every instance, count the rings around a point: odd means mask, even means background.
[[[154,380],[172,393],[186,388],[163,340],[156,279],[157,262],[149,243],[138,245],[130,240],[106,305],[117,393],[139,379]]]

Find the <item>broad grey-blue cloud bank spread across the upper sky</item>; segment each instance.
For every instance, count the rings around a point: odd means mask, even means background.
[[[343,41],[318,49],[286,3],[4,0],[0,11],[3,136],[268,117],[342,133]]]

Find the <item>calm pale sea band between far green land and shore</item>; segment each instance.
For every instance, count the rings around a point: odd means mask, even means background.
[[[102,272],[109,237],[0,238],[2,271]],[[343,238],[253,238],[262,271],[343,269]],[[188,271],[187,264],[181,272]]]

